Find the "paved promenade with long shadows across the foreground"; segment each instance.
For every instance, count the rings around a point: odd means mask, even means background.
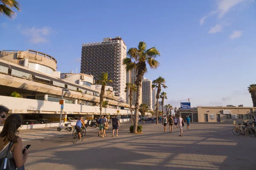
[[[26,170],[253,170],[256,167],[256,138],[233,135],[233,124],[191,123],[191,130],[183,128],[182,137],[179,129],[164,132],[162,124],[151,122],[143,125],[143,135],[131,135],[130,125],[122,123],[117,137],[107,130],[106,138],[97,136],[98,128],[87,128],[85,140],[76,144],[70,143],[71,132],[61,131],[52,137],[33,130],[31,134],[35,132],[40,139],[29,140],[27,136],[25,145],[32,147]],[[53,130],[49,133],[55,133]],[[20,135],[28,132],[20,131]]]

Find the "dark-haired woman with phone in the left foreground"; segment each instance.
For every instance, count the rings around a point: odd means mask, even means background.
[[[29,153],[26,147],[24,147],[24,153],[22,153],[22,140],[17,136],[17,129],[21,126],[21,122],[20,115],[11,114],[6,118],[3,130],[0,133],[0,158],[6,156],[10,144],[13,142],[9,158],[14,159],[15,165],[18,168],[24,165]]]

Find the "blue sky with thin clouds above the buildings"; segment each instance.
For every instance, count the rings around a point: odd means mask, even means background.
[[[18,0],[14,20],[0,16],[0,49],[32,49],[57,59],[58,71],[80,71],[81,45],[122,37],[127,48],[156,47],[166,104],[253,105],[256,0]]]

